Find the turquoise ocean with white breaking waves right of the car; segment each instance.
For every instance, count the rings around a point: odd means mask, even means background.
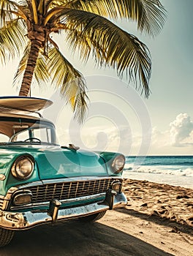
[[[124,178],[193,189],[193,156],[128,156]]]

